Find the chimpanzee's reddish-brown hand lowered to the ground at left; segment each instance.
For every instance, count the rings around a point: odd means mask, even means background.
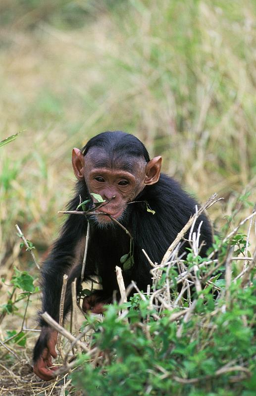
[[[55,351],[55,345],[57,344],[57,332],[49,327],[42,327],[41,335],[34,351],[34,373],[42,380],[50,381],[53,379],[53,372],[57,370],[57,367],[52,367],[51,357],[57,357]],[[45,345],[45,347],[44,347]],[[42,349],[43,347],[43,349]],[[42,352],[37,357],[38,351],[42,349]],[[51,368],[50,368],[51,367]]]

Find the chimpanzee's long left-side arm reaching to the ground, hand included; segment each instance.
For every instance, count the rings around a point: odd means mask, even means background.
[[[50,256],[42,269],[42,312],[47,311],[58,321],[59,303],[63,275],[69,275],[65,296],[64,317],[71,305],[71,283],[77,277],[77,271],[71,271],[79,261],[83,250],[87,221],[84,216],[70,215],[64,223],[61,235],[54,243]],[[81,271],[80,271],[81,273]],[[80,279],[77,284],[80,284]],[[34,372],[42,379],[52,378],[51,356],[56,357],[56,332],[41,318],[41,335],[34,348]]]

